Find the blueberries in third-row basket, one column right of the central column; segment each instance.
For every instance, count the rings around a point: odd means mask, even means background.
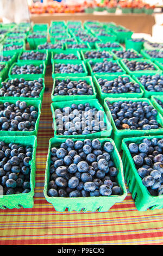
[[[118,76],[114,80],[98,78],[99,86],[102,88],[102,93],[140,93],[138,83],[130,81],[129,77]]]

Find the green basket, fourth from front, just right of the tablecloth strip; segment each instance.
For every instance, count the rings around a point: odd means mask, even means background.
[[[83,66],[83,73],[55,73],[55,64],[59,64],[59,63],[64,63],[64,64],[82,64]],[[54,60],[54,62],[52,63],[52,77],[55,78],[56,76],[61,76],[61,77],[67,77],[67,76],[80,76],[80,77],[84,77],[87,76],[87,69],[86,66],[83,62],[83,60],[79,60],[79,59],[70,59],[70,60],[63,60],[63,59],[56,59]]]

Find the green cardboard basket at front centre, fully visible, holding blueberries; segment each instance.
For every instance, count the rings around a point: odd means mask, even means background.
[[[72,139],[77,141],[77,139]],[[81,139],[84,141],[84,139]],[[44,196],[46,200],[51,203],[56,211],[65,211],[68,208],[68,211],[98,211],[104,212],[108,211],[112,205],[122,202],[127,196],[126,186],[124,184],[123,178],[123,164],[121,157],[116,149],[114,141],[110,138],[99,138],[99,141],[104,145],[105,142],[111,142],[114,145],[114,150],[110,153],[111,159],[114,160],[115,166],[118,169],[117,182],[122,188],[123,194],[121,196],[112,195],[112,196],[99,196],[99,197],[49,197],[47,194],[48,191],[48,182],[49,182],[49,167],[51,164],[51,148],[59,147],[61,143],[65,142],[66,139],[51,138],[49,140],[49,148],[46,162],[46,172],[45,172],[45,186],[44,186]]]

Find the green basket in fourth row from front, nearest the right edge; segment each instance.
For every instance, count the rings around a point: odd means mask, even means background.
[[[135,75],[135,74],[146,74],[146,73],[149,73],[149,74],[160,74],[161,70],[158,68],[158,66],[156,66],[151,60],[149,59],[132,59],[132,60],[136,60],[137,62],[147,62],[147,63],[151,63],[153,64],[155,70],[137,70],[137,71],[131,71],[128,66],[123,62],[123,59],[120,59],[120,63],[121,65],[123,66],[123,69],[126,70],[127,74],[129,75]]]

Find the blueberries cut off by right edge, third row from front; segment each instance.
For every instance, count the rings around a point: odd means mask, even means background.
[[[163,75],[142,75],[137,79],[148,92],[163,92]]]

